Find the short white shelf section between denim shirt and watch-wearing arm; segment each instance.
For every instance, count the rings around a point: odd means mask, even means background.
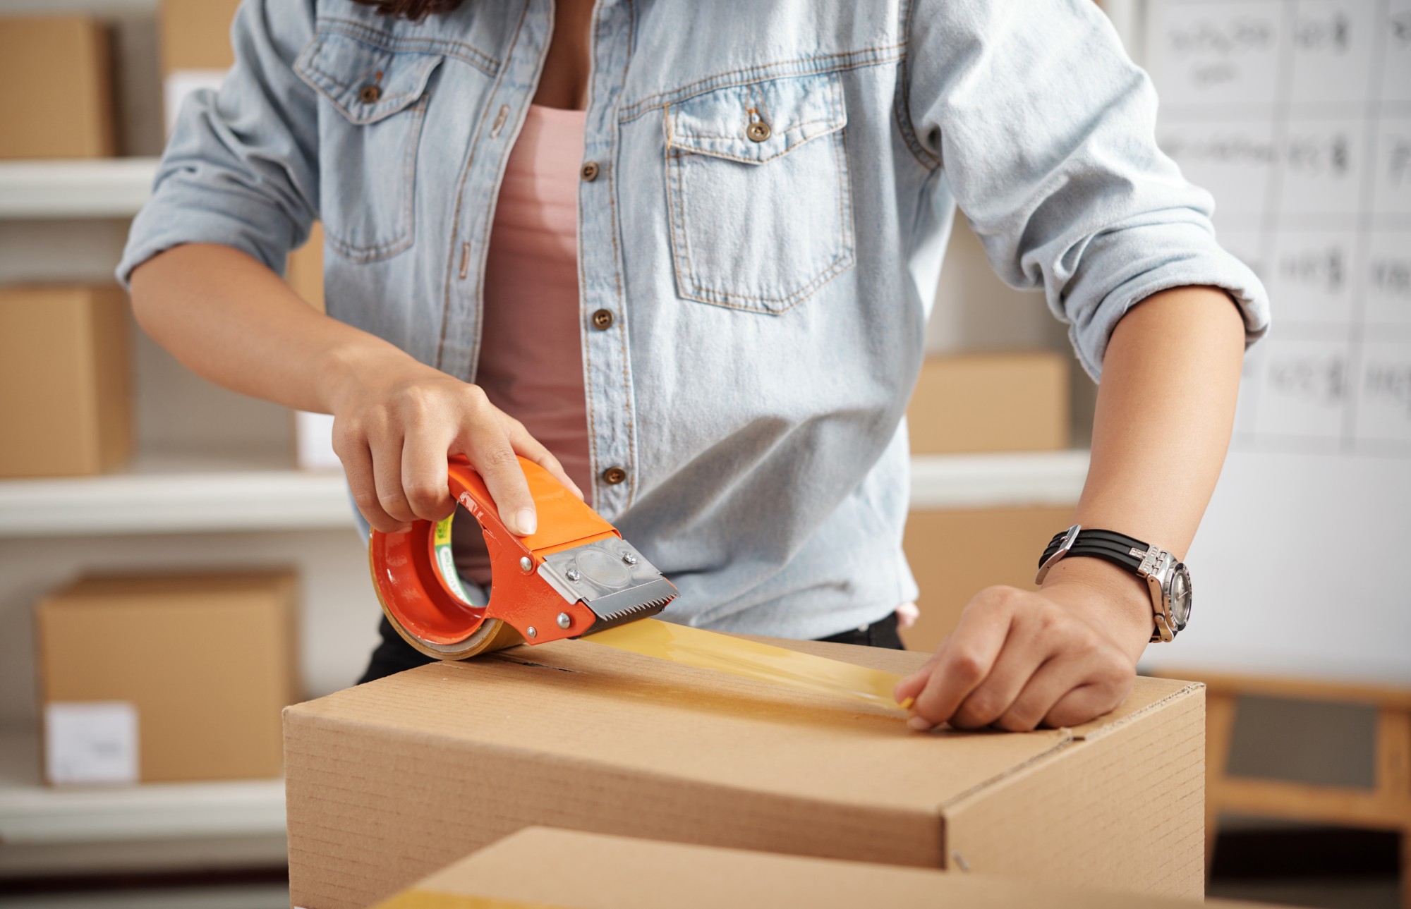
[[[1074,505],[1089,452],[1005,452],[912,457],[912,508]]]

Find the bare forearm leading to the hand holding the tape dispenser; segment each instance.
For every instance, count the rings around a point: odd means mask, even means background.
[[[133,309],[192,371],[302,411],[332,412],[349,368],[411,360],[315,311],[261,263],[219,244],[179,246],[141,264]]]

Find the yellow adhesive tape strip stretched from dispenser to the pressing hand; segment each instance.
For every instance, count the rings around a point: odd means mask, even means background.
[[[892,699],[896,683],[902,680],[899,675],[656,618],[641,618],[583,639],[801,692],[835,694],[879,707],[904,710],[912,706],[912,699],[902,704]]]

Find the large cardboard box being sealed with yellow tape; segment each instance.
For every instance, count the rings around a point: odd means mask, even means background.
[[[365,906],[550,826],[1199,896],[1204,718],[1199,685],[1150,678],[1071,730],[919,734],[587,641],[432,663],[285,710],[291,895]]]

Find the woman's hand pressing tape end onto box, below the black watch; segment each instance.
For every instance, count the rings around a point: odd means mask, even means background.
[[[916,699],[910,724],[919,730],[1075,726],[1122,703],[1150,637],[1144,582],[1098,559],[1064,560],[1037,593],[976,594],[896,699]]]

